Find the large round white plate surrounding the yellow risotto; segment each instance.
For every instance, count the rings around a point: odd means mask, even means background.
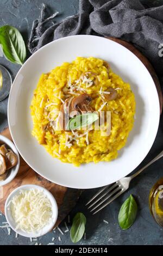
[[[40,75],[77,56],[108,61],[114,72],[129,82],[136,98],[136,119],[126,147],[116,160],[74,167],[53,159],[31,135],[30,102]],[[132,172],[145,158],[159,125],[159,99],[151,75],[127,48],[91,35],[68,36],[47,44],[33,54],[18,72],[8,103],[11,136],[23,159],[37,173],[57,184],[93,188],[111,184]]]

